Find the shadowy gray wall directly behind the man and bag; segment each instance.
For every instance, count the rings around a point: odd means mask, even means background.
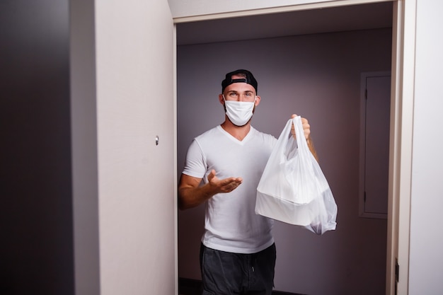
[[[262,100],[252,125],[278,137],[292,113],[307,117],[338,204],[323,236],[276,222],[275,289],[384,294],[386,220],[358,217],[359,91],[364,71],[391,68],[391,30],[302,35],[178,47],[178,173],[192,138],[223,122],[217,100],[228,71],[250,69]],[[200,279],[203,206],[179,212],[179,276]]]

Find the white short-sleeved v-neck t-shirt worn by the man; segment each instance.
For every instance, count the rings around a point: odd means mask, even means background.
[[[274,243],[272,219],[255,214],[257,186],[277,139],[251,127],[239,141],[221,126],[196,137],[188,149],[183,174],[202,178],[214,169],[217,178],[241,177],[243,183],[229,193],[206,202],[205,233],[208,248],[231,253],[257,253]]]

